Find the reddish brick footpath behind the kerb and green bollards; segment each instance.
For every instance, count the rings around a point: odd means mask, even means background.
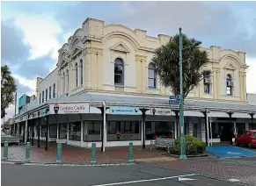
[[[2,147],[2,158],[4,157]],[[162,151],[143,150],[142,147],[134,147],[134,159],[163,158],[166,157]],[[25,146],[8,147],[8,161],[26,161]],[[44,146],[40,148],[31,147],[31,161],[40,163],[52,163],[56,161],[56,145],[50,144],[48,151]],[[82,147],[70,147],[62,145],[62,162],[63,163],[88,163],[91,161],[91,149]],[[100,148],[96,149],[96,161],[99,163],[121,163],[128,162],[128,147],[106,147],[106,152],[100,152]]]

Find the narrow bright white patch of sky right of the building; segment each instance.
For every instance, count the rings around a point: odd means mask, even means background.
[[[256,86],[255,86],[255,77],[256,77],[256,58],[247,58],[246,64],[250,66],[247,69],[246,74],[246,91],[247,93],[255,93],[256,94]]]

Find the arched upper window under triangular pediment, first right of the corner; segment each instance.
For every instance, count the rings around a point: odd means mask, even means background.
[[[117,58],[114,61],[114,84],[124,84],[124,66],[123,61],[120,58]]]

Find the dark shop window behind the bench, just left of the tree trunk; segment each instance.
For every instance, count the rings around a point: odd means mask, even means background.
[[[146,140],[174,139],[174,122],[146,121]]]

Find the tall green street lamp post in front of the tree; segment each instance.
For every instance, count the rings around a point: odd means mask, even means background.
[[[185,137],[184,137],[184,95],[183,95],[183,72],[182,72],[182,51],[189,48],[190,46],[183,49],[183,35],[179,28],[179,125],[180,125],[180,155],[179,159],[187,159]],[[199,46],[201,41],[194,41],[191,46]]]

